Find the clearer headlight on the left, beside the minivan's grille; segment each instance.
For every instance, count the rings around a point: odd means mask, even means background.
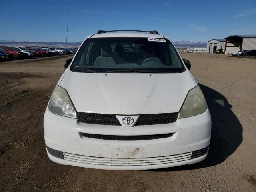
[[[66,89],[56,85],[49,102],[49,110],[58,115],[77,118],[76,109]]]

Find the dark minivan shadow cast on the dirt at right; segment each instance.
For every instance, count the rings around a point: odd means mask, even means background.
[[[156,169],[152,171],[180,171],[192,170],[218,165],[242,143],[242,125],[232,112],[232,105],[216,90],[199,84],[212,116],[211,142],[207,158],[197,164],[172,168]]]

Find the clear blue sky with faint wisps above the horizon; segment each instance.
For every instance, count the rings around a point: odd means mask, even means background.
[[[256,0],[0,0],[0,40],[68,42],[98,30],[158,30],[173,41],[256,34]]]

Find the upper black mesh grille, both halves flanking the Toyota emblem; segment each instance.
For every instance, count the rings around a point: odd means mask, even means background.
[[[156,125],[174,123],[178,118],[178,113],[159,113],[159,114],[142,114],[137,120],[135,126],[139,125]],[[121,125],[114,114],[98,113],[78,113],[78,119],[82,123],[99,124],[99,125]]]

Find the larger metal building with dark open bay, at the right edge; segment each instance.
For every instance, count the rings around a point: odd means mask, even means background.
[[[225,38],[226,53],[256,49],[256,35],[231,35]],[[208,44],[207,44],[208,46]]]

